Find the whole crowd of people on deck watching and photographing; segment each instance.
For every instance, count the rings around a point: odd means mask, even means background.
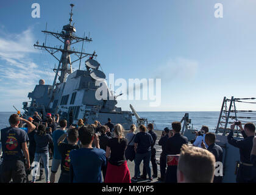
[[[46,183],[131,183],[139,179],[152,182],[158,177],[157,133],[153,124],[140,125],[139,132],[133,124],[124,135],[123,126],[114,125],[110,118],[104,125],[99,121],[84,124],[83,119],[77,124],[72,122],[51,113],[43,118],[35,112],[27,120],[17,114],[11,115],[10,127],[1,129],[1,182],[29,182],[31,174],[30,182],[35,183],[37,176],[39,180],[44,179],[43,170]],[[233,137],[235,126],[240,127],[243,140]],[[236,122],[230,129],[227,140],[240,149],[236,182],[256,182],[255,126],[247,123],[243,128],[241,122]],[[166,183],[222,182],[222,174],[215,174],[216,162],[222,163],[223,156],[215,133],[202,126],[196,138],[189,141],[180,130],[181,123],[172,122],[172,129],[166,127],[158,141],[162,146],[158,180]],[[135,165],[133,177],[128,160]],[[57,178],[59,168],[61,173]]]

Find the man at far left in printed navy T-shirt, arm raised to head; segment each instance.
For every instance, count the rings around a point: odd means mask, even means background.
[[[29,150],[27,149],[29,137],[24,130],[18,128],[20,120],[26,121],[19,115],[13,114],[9,118],[10,127],[1,129],[3,152],[1,181],[3,183],[9,183],[11,179],[15,183],[26,182],[25,158],[26,168],[30,168]],[[33,124],[26,122],[31,129],[35,129]]]

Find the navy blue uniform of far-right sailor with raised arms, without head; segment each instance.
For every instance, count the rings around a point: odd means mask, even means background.
[[[227,140],[229,144],[239,148],[240,151],[240,166],[238,168],[238,172],[236,175],[237,183],[247,183],[247,182],[255,182],[255,168],[253,166],[243,165],[252,164],[251,163],[251,151],[253,146],[254,136],[247,137],[246,133],[242,130],[243,140],[236,140],[233,137],[233,130],[230,130],[229,135],[227,136]]]

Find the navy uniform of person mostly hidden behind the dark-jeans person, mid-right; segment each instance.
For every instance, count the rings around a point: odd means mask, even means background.
[[[153,139],[153,144],[151,145],[151,163],[153,169],[153,177],[157,177],[157,158],[155,158],[156,149],[155,149],[155,141],[157,141],[157,134],[152,130],[149,130],[149,134]],[[146,177],[146,168],[143,166],[143,177]]]

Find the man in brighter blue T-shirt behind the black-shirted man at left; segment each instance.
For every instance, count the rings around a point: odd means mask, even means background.
[[[65,133],[67,121],[65,119],[60,121],[60,129],[55,130],[52,133],[52,141],[54,143],[54,157],[52,159],[52,168],[51,168],[51,177],[50,182],[55,182],[55,174],[59,169],[60,164],[62,163],[62,155],[58,149],[58,140]]]

